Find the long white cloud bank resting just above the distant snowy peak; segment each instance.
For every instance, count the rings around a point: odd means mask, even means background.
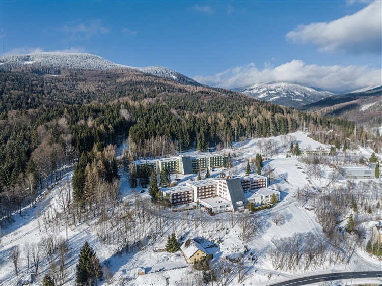
[[[341,92],[368,85],[382,85],[382,70],[372,69],[368,66],[308,65],[301,60],[293,60],[278,67],[266,67],[262,70],[251,63],[211,76],[198,75],[194,79],[201,83],[224,88],[244,87],[269,81],[288,81]]]

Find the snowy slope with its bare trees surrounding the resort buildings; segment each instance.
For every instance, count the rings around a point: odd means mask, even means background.
[[[351,163],[361,157],[367,160],[372,151],[338,150],[317,157],[319,161],[313,163],[317,159],[314,156],[290,152],[292,146],[294,150],[330,149],[307,135],[295,132],[257,138],[218,150],[225,155],[230,152],[232,165],[225,172],[238,176],[244,174],[248,158],[257,153],[267,156],[261,173],[270,178],[271,189],[281,192],[281,201],[258,212],[213,216],[201,208],[172,211],[164,202],[154,203],[148,192],[151,185],[132,188],[132,178],[124,168],[128,144],[118,160],[118,181],[107,179],[115,168],[111,147],[95,153],[94,163],[85,168],[84,202],[92,205],[86,203],[82,208],[76,203],[80,193],[74,182],[78,179],[69,170],[42,192],[34,208],[21,209],[2,228],[2,283],[32,279],[31,285],[40,285],[49,275],[56,285],[73,285],[82,273],[93,281],[98,276],[98,285],[203,285],[206,281],[267,285],[313,272],[378,270],[380,261],[365,251],[365,238],[371,235],[370,226],[381,219],[382,181],[348,182],[335,166],[336,162]],[[103,160],[103,156],[110,157]],[[107,161],[111,163],[104,170],[106,181],[93,181],[91,178],[99,173],[95,175],[92,170]],[[251,172],[256,170],[251,164]],[[211,170],[210,176],[220,172],[220,168]],[[205,172],[201,175],[204,177]],[[181,184],[197,176],[173,174],[171,180]],[[94,193],[86,191],[89,184],[95,184]],[[307,210],[308,205],[315,209]],[[180,244],[188,238],[201,238],[203,247],[212,254],[208,264],[190,266],[181,251],[167,252],[168,236],[173,233]],[[92,265],[92,270],[78,272],[81,263]],[[145,275],[138,275],[143,270]],[[38,275],[34,278],[31,273]],[[377,282],[372,278],[362,281]]]

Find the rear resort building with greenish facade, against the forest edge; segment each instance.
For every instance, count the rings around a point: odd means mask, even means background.
[[[137,174],[141,174],[142,168],[147,163],[149,170],[155,169],[157,174],[163,168],[167,168],[171,174],[193,174],[195,170],[205,170],[208,168],[217,168],[223,166],[223,156],[219,154],[207,154],[201,156],[176,156],[165,159],[139,160],[135,161]]]

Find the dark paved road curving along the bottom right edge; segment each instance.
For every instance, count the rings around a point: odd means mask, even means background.
[[[321,275],[312,275],[303,278],[297,278],[292,280],[287,280],[284,282],[270,284],[269,286],[302,286],[313,283],[320,283],[324,281],[332,280],[346,280],[346,279],[356,279],[356,278],[382,278],[381,271],[365,271],[365,272],[339,272],[339,273],[329,273]],[[382,283],[382,280],[381,280]]]

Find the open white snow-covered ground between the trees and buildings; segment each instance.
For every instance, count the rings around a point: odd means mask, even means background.
[[[305,148],[328,148],[319,142],[309,138],[304,132],[295,132],[290,134],[302,149]],[[113,274],[110,281],[112,285],[185,285],[193,284],[194,274],[192,268],[188,266],[180,251],[176,253],[154,252],[165,246],[167,235],[175,231],[177,237],[182,237],[183,241],[187,238],[202,237],[210,242],[217,243],[219,247],[208,248],[207,251],[214,255],[214,261],[221,261],[225,256],[231,259],[239,258],[243,255],[245,275],[242,283],[238,283],[237,275],[232,276],[229,280],[230,285],[267,285],[270,283],[280,282],[286,279],[297,278],[312,274],[340,272],[340,271],[368,271],[380,270],[380,261],[370,257],[364,250],[358,249],[351,257],[349,263],[337,263],[329,265],[323,263],[314,270],[304,270],[298,268],[294,271],[275,270],[269,255],[269,251],[274,247],[272,241],[291,237],[294,234],[313,233],[322,236],[322,228],[317,221],[314,211],[308,211],[301,203],[297,202],[295,193],[298,188],[310,186],[317,189],[317,186],[324,185],[325,174],[330,170],[329,167],[323,167],[322,178],[309,178],[306,174],[305,167],[300,164],[297,158],[286,158],[286,150],[289,145],[282,147],[282,136],[266,138],[266,140],[275,140],[280,144],[280,152],[278,155],[270,158],[265,162],[264,169],[270,167],[273,170],[273,180],[270,188],[281,191],[281,201],[270,210],[264,210],[257,213],[258,219],[256,224],[249,225],[251,235],[248,241],[243,241],[242,228],[240,227],[240,216],[238,213],[221,213],[209,216],[201,209],[171,212],[163,210],[162,223],[163,235],[143,246],[142,251],[134,250],[130,253],[119,251],[115,244],[103,243],[97,236],[96,220],[88,220],[88,222],[80,223],[77,226],[71,225],[65,228],[65,223],[51,223],[50,227],[45,230],[43,226],[43,213],[50,210],[61,212],[62,209],[58,204],[58,196],[60,191],[65,188],[66,182],[70,182],[72,172],[68,173],[65,178],[58,183],[51,191],[45,192],[40,197],[36,208],[29,209],[22,216],[16,215],[15,222],[5,230],[2,230],[2,244],[0,246],[0,285],[14,285],[16,282],[13,272],[13,264],[10,261],[10,251],[18,246],[21,250],[22,259],[20,259],[20,275],[23,281],[29,280],[26,274],[26,262],[23,258],[23,246],[26,243],[38,242],[49,235],[68,238],[69,259],[67,261],[67,280],[66,285],[73,285],[75,281],[75,265],[77,263],[78,254],[81,246],[87,240],[96,251],[102,265],[107,265]],[[261,147],[259,142],[261,141]],[[264,148],[264,139],[253,139],[245,142],[237,142],[233,149],[221,150],[221,153],[228,154],[228,151],[234,155],[235,173],[243,174],[247,157],[253,157],[256,153],[260,153],[260,149]],[[128,147],[128,146],[127,146]],[[121,154],[120,148],[119,154]],[[360,149],[363,155],[368,157],[371,150]],[[357,151],[357,152],[359,152]],[[195,153],[195,152],[193,152]],[[378,154],[380,156],[380,154]],[[380,158],[380,157],[379,157]],[[211,177],[219,175],[221,169],[211,171]],[[121,174],[122,175],[122,174]],[[202,174],[203,176],[204,174]],[[197,175],[172,175],[172,180],[180,179],[183,182]],[[378,180],[374,180],[377,182]],[[380,180],[379,180],[380,181]],[[339,182],[341,184],[343,182]],[[142,198],[148,198],[148,192],[141,193],[143,189],[138,187],[135,190],[130,188],[126,176],[121,176],[121,202],[123,204],[131,204],[135,195]],[[150,204],[150,203],[148,203]],[[308,202],[307,204],[311,204]],[[147,206],[150,208],[150,205]],[[277,214],[284,217],[282,223],[275,224],[272,220]],[[194,218],[198,218],[194,222]],[[200,218],[200,219],[199,219]],[[167,222],[166,222],[167,221]],[[170,222],[169,222],[170,221]],[[166,225],[167,223],[167,225]],[[366,222],[365,226],[370,227],[373,221]],[[244,254],[244,249],[248,251]],[[39,266],[38,285],[45,273],[48,272],[49,264],[45,255],[41,255],[41,264]],[[31,263],[30,269],[33,268]],[[145,268],[146,275],[138,276],[138,272]],[[236,270],[233,269],[233,272]],[[134,275],[137,279],[133,279]],[[359,280],[364,282],[363,280]],[[369,283],[380,283],[377,279],[366,279]],[[342,284],[349,281],[341,281]],[[335,285],[340,285],[334,283]],[[357,281],[353,281],[355,283]],[[98,283],[106,285],[106,281]]]

